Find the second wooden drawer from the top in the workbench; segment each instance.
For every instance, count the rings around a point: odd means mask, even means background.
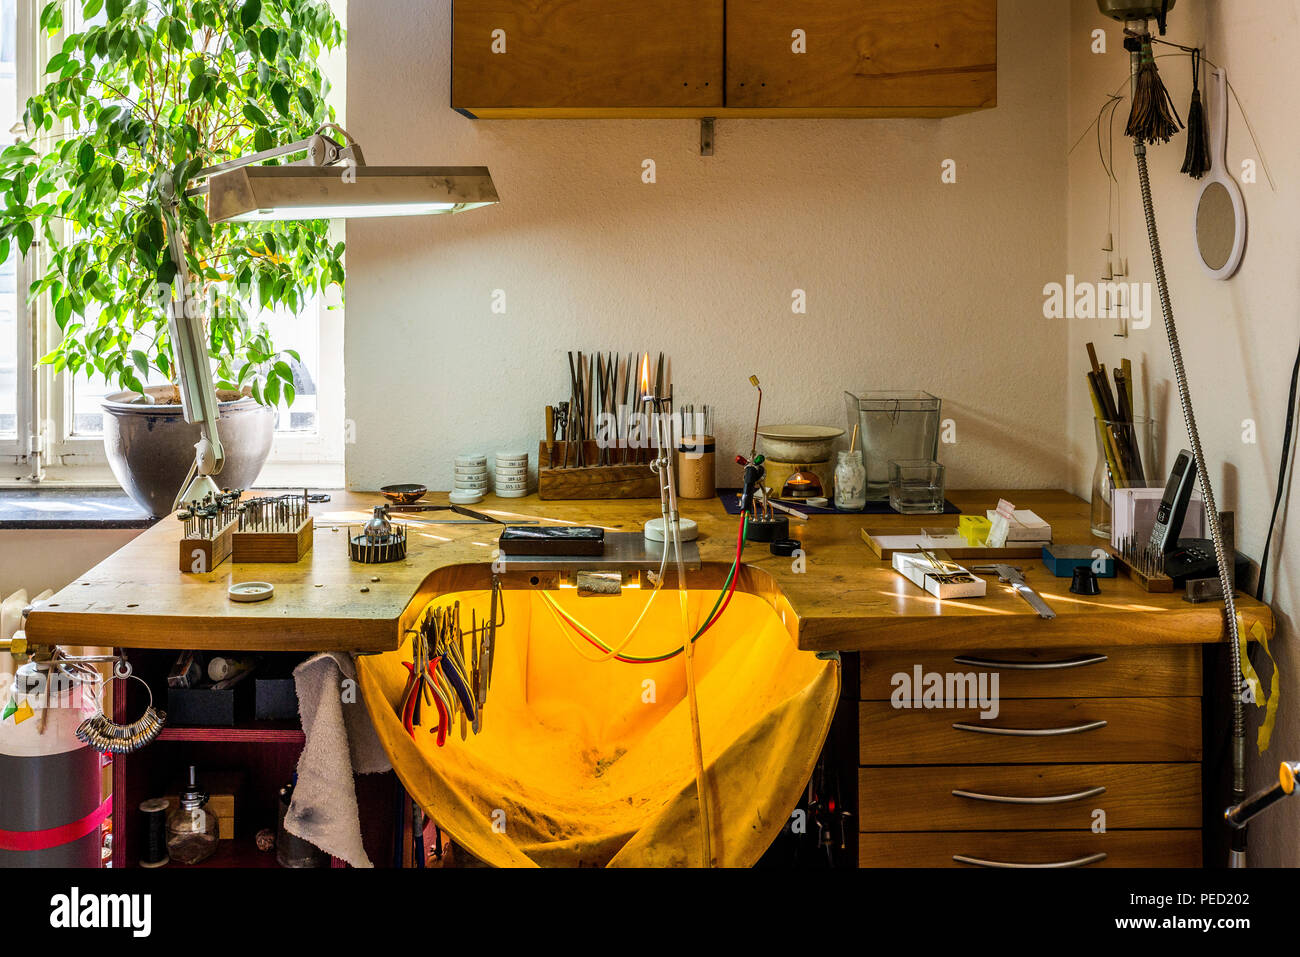
[[[978,707],[858,705],[861,765],[1201,759],[1200,698],[1023,698]]]

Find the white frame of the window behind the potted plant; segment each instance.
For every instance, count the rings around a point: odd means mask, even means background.
[[[49,59],[52,51],[61,47],[61,35],[49,36],[39,27],[40,9],[47,0],[16,0],[18,35],[16,73],[18,101],[26,103],[40,79],[40,66]],[[75,0],[64,0],[65,22],[79,20]],[[346,0],[330,0],[346,26]],[[26,60],[26,62],[25,62]],[[346,70],[346,55],[342,51],[329,57],[330,66]],[[332,78],[333,81],[333,78]],[[339,94],[346,90],[344,77],[333,82],[332,100],[343,122],[346,98]],[[332,224],[334,242],[343,238],[343,225]],[[26,302],[32,270],[43,272],[46,250],[38,237],[26,257],[18,257],[16,289],[20,303]],[[42,481],[48,485],[116,485],[108,458],[104,452],[104,439],[99,436],[77,434],[75,419],[75,378],[72,372],[55,372],[51,365],[36,365],[39,356],[52,351],[60,337],[60,329],[44,296],[26,306],[20,313],[18,369],[26,368],[29,374],[18,374],[18,413],[17,437],[0,439],[0,456],[13,456],[17,464],[26,463],[31,475],[25,481]],[[303,316],[306,319],[306,316]],[[26,321],[26,330],[22,329]],[[266,468],[263,469],[259,484],[277,485],[317,485],[342,486],[344,458],[344,403],[343,403],[343,304],[338,289],[332,287],[322,296],[315,316],[317,324],[320,369],[313,371],[317,384],[316,428],[312,432],[277,432],[272,443]],[[26,334],[23,334],[26,332]],[[329,384],[328,389],[322,389]],[[12,485],[9,476],[0,476],[0,486]]]

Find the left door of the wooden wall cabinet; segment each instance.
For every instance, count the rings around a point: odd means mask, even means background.
[[[472,116],[722,107],[723,0],[455,0],[451,105]]]

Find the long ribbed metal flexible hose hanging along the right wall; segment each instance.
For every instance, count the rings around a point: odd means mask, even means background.
[[[1160,234],[1156,230],[1156,207],[1150,198],[1150,173],[1147,169],[1147,146],[1140,140],[1134,147],[1138,157],[1138,183],[1141,187],[1141,205],[1147,216],[1147,238],[1150,241],[1150,259],[1156,269],[1156,290],[1160,293],[1160,308],[1165,317],[1165,334],[1169,337],[1169,354],[1174,363],[1174,381],[1178,385],[1178,404],[1187,423],[1187,439],[1196,458],[1197,475],[1201,482],[1201,495],[1205,499],[1206,521],[1210,538],[1214,540],[1214,558],[1218,560],[1219,584],[1223,588],[1223,627],[1230,636],[1228,661],[1231,667],[1232,696],[1232,796],[1234,801],[1245,797],[1245,709],[1242,702],[1242,651],[1236,635],[1236,599],[1232,594],[1234,557],[1227,554],[1223,544],[1223,531],[1219,527],[1218,505],[1214,501],[1214,486],[1205,469],[1205,454],[1201,451],[1201,436],[1196,428],[1196,412],[1192,411],[1192,395],[1187,385],[1187,371],[1183,368],[1183,348],[1178,342],[1178,329],[1174,326],[1174,307],[1169,298],[1169,281],[1165,277],[1165,257],[1160,250]]]

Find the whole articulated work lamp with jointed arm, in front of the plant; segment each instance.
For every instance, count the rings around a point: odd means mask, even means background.
[[[286,165],[255,165],[295,153],[306,156]],[[195,179],[199,185],[185,195],[207,195],[208,220],[214,224],[432,216],[498,202],[486,166],[367,166],[361,147],[334,124],[296,143],[208,166]],[[218,493],[212,476],[225,465],[225,450],[217,434],[217,390],[204,316],[187,298],[190,273],[179,229],[181,195],[170,174],[164,174],[161,192],[176,265],[168,329],[185,421],[198,423],[200,429],[194,465],[177,498],[179,506]]]

